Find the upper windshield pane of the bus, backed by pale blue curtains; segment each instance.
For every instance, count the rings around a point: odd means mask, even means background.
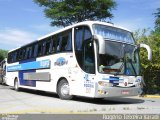
[[[94,24],[94,34],[102,36],[104,39],[135,44],[132,34],[126,30],[105,25]]]

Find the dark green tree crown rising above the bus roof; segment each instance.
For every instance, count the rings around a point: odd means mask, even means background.
[[[106,21],[112,18],[114,0],[34,0],[43,6],[52,26],[68,26],[86,19]]]

